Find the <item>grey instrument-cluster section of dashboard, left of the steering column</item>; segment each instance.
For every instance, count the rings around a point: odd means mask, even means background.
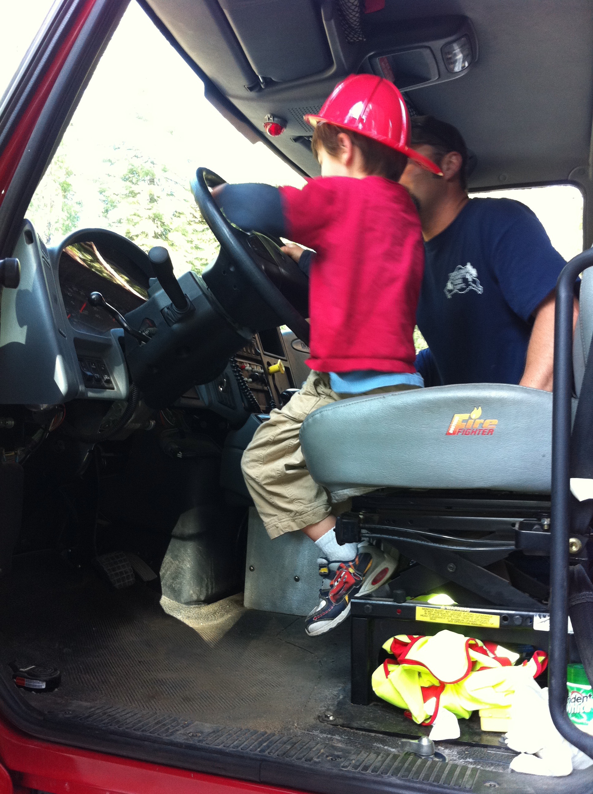
[[[25,220],[13,255],[21,283],[2,291],[0,366],[10,377],[0,403],[127,399],[123,330],[88,297],[99,291],[122,314],[144,305],[154,275],[147,254],[106,229],[80,229],[48,249]]]

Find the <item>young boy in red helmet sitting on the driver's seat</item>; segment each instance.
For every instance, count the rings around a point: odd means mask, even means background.
[[[346,78],[319,115],[305,119],[314,127],[321,178],[302,190],[223,185],[214,195],[241,228],[287,237],[316,252],[306,362],[312,372],[282,410],[272,410],[242,460],[270,537],[301,530],[318,546],[322,588],[306,618],[307,634],[316,635],[346,619],[352,596],[383,584],[395,560],[378,546],[337,544],[329,497],[306,469],[298,433],[311,411],[337,400],[422,387],[413,332],[424,248],[418,213],[398,179],[408,157],[440,172],[409,148],[406,104],[393,83],[375,75]],[[301,259],[299,246],[284,250]]]

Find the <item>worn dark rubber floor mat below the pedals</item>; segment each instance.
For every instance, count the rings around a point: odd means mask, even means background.
[[[309,638],[303,619],[237,597],[220,619],[213,607],[202,621],[195,607],[173,616],[144,584],[114,590],[58,562],[11,573],[0,596],[5,669],[17,658],[62,671],[56,692],[27,696],[43,711],[102,703],[279,730],[318,724],[349,680],[347,626]]]

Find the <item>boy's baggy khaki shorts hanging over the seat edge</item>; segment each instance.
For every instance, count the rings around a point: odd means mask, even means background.
[[[397,384],[365,394],[410,388],[417,387]],[[301,391],[282,410],[271,411],[268,422],[258,427],[245,449],[241,461],[245,483],[271,538],[302,530],[332,512],[328,492],[307,471],[298,434],[312,411],[353,396],[360,395],[339,395],[329,386],[327,373],[311,372]],[[372,490],[360,488],[349,491],[348,495]]]

